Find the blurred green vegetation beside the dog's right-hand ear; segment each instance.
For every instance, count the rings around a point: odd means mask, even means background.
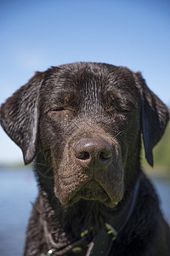
[[[152,168],[145,159],[144,147],[141,155],[144,170],[146,172],[151,172]],[[157,143],[156,147],[153,149],[153,155],[154,169],[156,169],[157,174],[159,174],[159,172],[164,172],[164,174],[167,173],[167,175],[170,177],[170,122],[167,125],[167,129],[164,132],[163,137],[161,137],[161,141]]]

